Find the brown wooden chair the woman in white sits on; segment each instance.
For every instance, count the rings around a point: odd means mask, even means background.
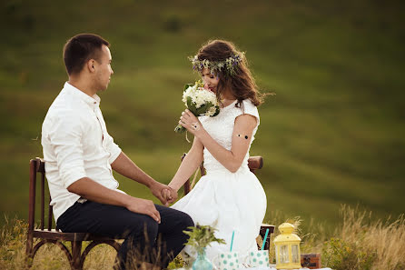
[[[186,155],[186,154],[183,154],[183,156],[182,156],[182,161],[183,161],[185,155]],[[256,170],[261,169],[262,166],[263,166],[263,158],[262,158],[262,156],[251,156],[251,157],[248,159],[248,166],[249,166],[249,169],[251,170],[251,172],[252,172],[253,174],[255,174]],[[201,173],[201,175],[205,175],[205,169],[204,169],[204,167],[203,167],[203,163],[200,165],[200,173]],[[188,179],[188,180],[184,183],[183,186],[184,186],[183,188],[184,188],[184,194],[185,194],[185,195],[187,195],[187,194],[192,190],[192,188],[193,188],[190,179]],[[267,230],[267,229],[269,229],[269,235],[268,235],[268,237],[265,239],[266,243],[265,243],[265,245],[264,245],[264,249],[267,249],[267,250],[268,250],[269,247],[270,247],[270,238],[271,238],[271,235],[272,235],[272,233],[274,233],[274,225],[262,224],[261,229],[260,229],[260,235],[261,235],[262,239],[264,238],[264,235],[266,234],[266,230]],[[257,242],[258,248],[261,248],[261,247],[262,247],[262,242],[260,242],[260,241],[256,241],[256,242]]]

